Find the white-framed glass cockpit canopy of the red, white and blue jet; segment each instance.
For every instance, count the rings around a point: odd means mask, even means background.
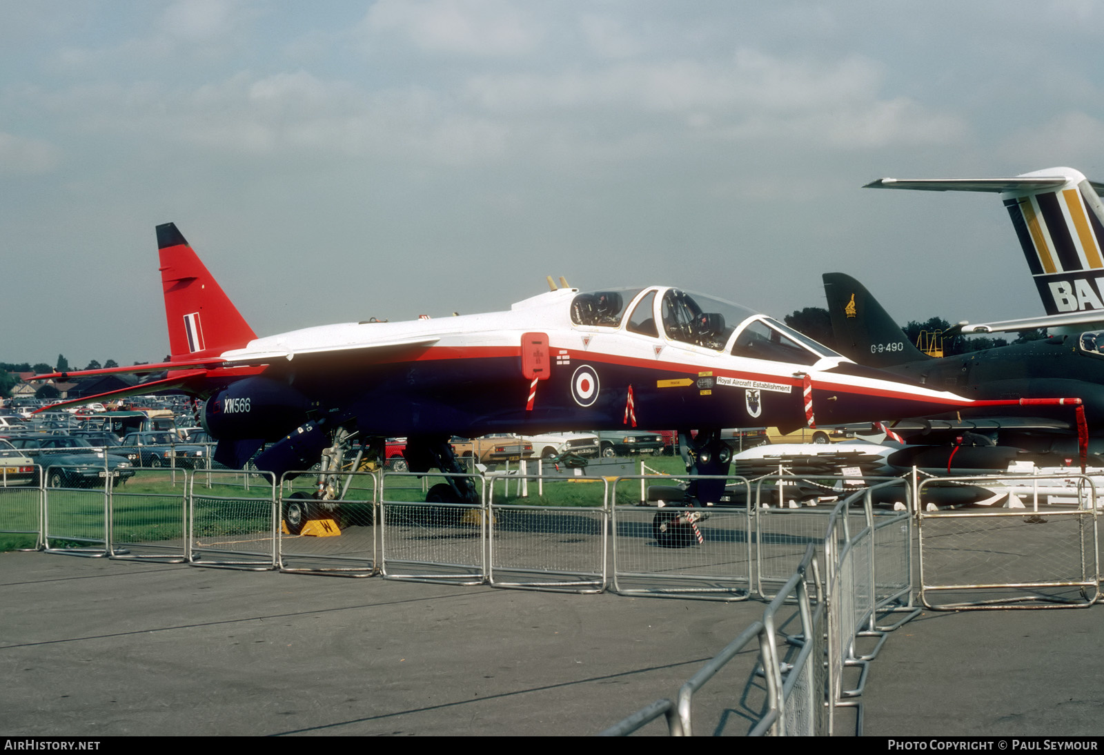
[[[620,328],[627,311],[631,311],[625,323],[628,332],[667,338],[712,351],[729,350],[734,357],[799,364],[839,357],[793,328],[746,307],[678,288],[623,288],[578,294],[572,300],[571,319],[577,326]]]

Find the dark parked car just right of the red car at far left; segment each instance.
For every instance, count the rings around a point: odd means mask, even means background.
[[[117,483],[134,477],[134,465],[124,456],[106,454],[84,438],[63,435],[10,436],[8,442],[26,451],[42,467],[51,488],[83,488],[103,485],[110,475]]]

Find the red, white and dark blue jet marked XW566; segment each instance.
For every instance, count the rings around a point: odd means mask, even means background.
[[[692,471],[723,474],[721,428],[839,424],[980,404],[856,364],[776,320],[667,286],[582,293],[561,278],[508,311],[330,325],[257,338],[172,223],[157,228],[169,361],[163,376],[68,403],[164,390],[203,400],[215,460],[277,476],[352,438],[405,436],[415,472],[461,471],[453,435],[680,428]],[[46,378],[41,375],[40,378]],[[53,376],[62,376],[56,373]],[[690,428],[699,432],[691,435]],[[438,500],[469,500],[450,478]],[[318,496],[332,497],[320,483]]]

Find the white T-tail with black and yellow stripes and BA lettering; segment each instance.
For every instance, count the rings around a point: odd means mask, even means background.
[[[872,189],[1000,193],[1048,315],[1104,310],[1104,183],[1073,168],[1012,178],[881,179]]]

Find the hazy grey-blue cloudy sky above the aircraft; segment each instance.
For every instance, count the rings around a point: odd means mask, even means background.
[[[259,334],[677,285],[1042,306],[992,194],[1104,180],[1104,4],[0,0],[0,361],[168,353],[174,222]]]

